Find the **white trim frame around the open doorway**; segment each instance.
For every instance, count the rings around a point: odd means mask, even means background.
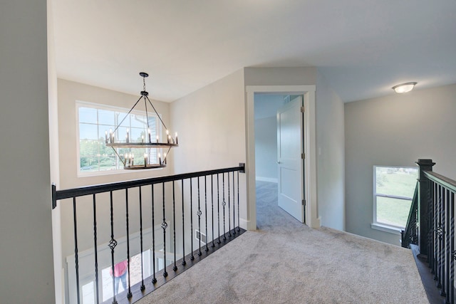
[[[247,220],[243,226],[257,230],[257,194],[255,189],[255,93],[281,93],[304,95],[304,196],[306,199],[305,221],[312,228],[320,227],[316,196],[316,125],[315,85],[247,85],[246,86],[246,134],[247,134]]]

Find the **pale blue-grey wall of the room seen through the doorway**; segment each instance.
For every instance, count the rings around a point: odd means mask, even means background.
[[[277,182],[277,118],[275,116],[255,120],[255,174],[257,180]]]

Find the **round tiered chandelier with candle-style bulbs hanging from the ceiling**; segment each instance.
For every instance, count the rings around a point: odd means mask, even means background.
[[[147,73],[141,72],[140,76],[142,77],[142,84],[143,88],[141,91],[141,96],[138,99],[138,101],[133,105],[133,107],[128,111],[127,115],[123,117],[123,120],[120,121],[120,123],[115,127],[114,130],[110,130],[109,134],[108,131],[105,131],[105,145],[106,147],[112,147],[115,154],[118,156],[120,159],[120,162],[123,163],[123,169],[155,169],[155,168],[163,168],[166,167],[167,164],[167,156],[171,150],[172,147],[178,147],[179,144],[177,142],[177,132],[175,133],[175,136],[172,137],[170,134],[170,131],[166,127],[165,123],[163,122],[162,118],[160,115],[158,115],[157,110],[155,110],[154,105],[152,105],[152,102],[150,101],[148,95],[149,93],[145,90],[145,78],[148,77],[149,75]],[[125,140],[119,140],[115,134],[118,133],[118,129],[120,125],[124,122],[124,120],[130,116],[130,113],[135,109],[135,107],[140,103],[141,100],[144,100],[144,105],[145,105],[145,118],[147,122],[147,134],[144,134],[145,132],[142,132],[140,140],[135,140],[131,137],[130,135],[130,130],[127,128],[126,134],[125,134]],[[151,128],[150,128],[150,117],[149,113],[151,113],[150,109],[155,112],[155,115],[157,115],[158,119],[161,122],[162,127],[165,128],[166,130],[166,140],[160,142],[160,136],[158,135],[160,132],[160,128],[156,130],[157,136],[152,139],[151,135]],[[118,148],[127,148],[128,151],[120,155],[118,153]],[[163,156],[158,153],[157,155],[155,153],[152,153],[151,150],[153,149],[167,149],[166,152],[163,153]],[[135,152],[133,151],[134,149],[142,149],[145,150],[144,153],[144,160],[140,159],[135,159]],[[138,153],[136,153],[138,154]],[[151,155],[156,155],[157,157],[157,162],[155,162],[155,159],[151,159]],[[138,158],[138,157],[137,157]]]

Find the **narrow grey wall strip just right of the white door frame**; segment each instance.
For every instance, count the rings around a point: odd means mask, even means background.
[[[321,225],[345,230],[343,102],[321,73],[316,80],[318,216]]]

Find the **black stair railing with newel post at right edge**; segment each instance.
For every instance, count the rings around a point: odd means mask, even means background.
[[[420,256],[426,258],[445,303],[455,303],[456,181],[432,172],[432,159],[418,159],[417,164]]]

